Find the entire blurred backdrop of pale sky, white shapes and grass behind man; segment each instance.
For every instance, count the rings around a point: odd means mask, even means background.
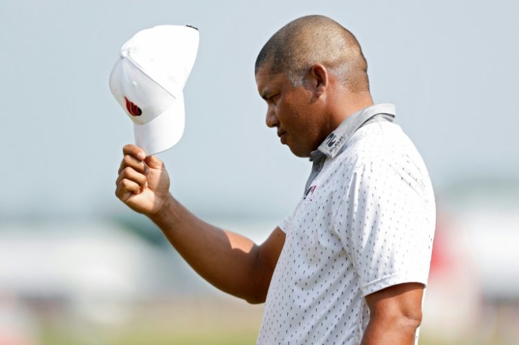
[[[133,129],[108,78],[139,30],[199,28],[185,133],[159,158],[194,214],[261,243],[311,165],[265,126],[253,66],[309,14],[354,32],[432,177],[420,344],[519,344],[516,1],[0,0],[0,345],[255,344],[262,306],[209,286],[114,196]]]

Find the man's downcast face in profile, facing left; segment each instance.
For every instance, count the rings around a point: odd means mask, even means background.
[[[284,73],[271,74],[266,63],[256,73],[257,91],[266,100],[266,125],[277,128],[281,143],[295,156],[309,157],[327,133],[322,132],[322,115],[311,87],[293,88]]]

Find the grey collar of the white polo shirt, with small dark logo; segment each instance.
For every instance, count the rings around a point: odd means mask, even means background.
[[[325,155],[329,159],[333,159],[340,152],[340,149],[346,144],[353,133],[362,127],[365,122],[369,121],[375,115],[388,115],[384,118],[389,121],[394,119],[394,104],[381,103],[368,106],[347,116],[343,122],[323,141],[316,151],[310,153],[310,160],[318,160],[320,156]]]

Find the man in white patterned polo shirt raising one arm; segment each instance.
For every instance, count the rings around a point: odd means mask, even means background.
[[[313,162],[295,210],[262,245],[191,214],[161,160],[124,147],[116,195],[158,225],[204,279],[266,301],[258,344],[415,344],[435,201],[394,106],[373,104],[351,32],[295,19],[257,57],[266,124]]]

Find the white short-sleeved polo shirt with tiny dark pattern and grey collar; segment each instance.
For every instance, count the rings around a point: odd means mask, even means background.
[[[286,239],[257,344],[358,345],[365,295],[427,283],[435,198],[393,118],[392,104],[358,111],[311,154],[304,196],[280,225]]]

